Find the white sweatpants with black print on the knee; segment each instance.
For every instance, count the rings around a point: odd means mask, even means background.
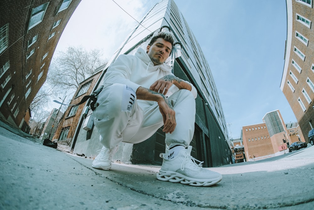
[[[177,124],[172,134],[165,135],[165,144],[187,147],[194,134],[195,99],[189,90],[181,89],[168,100],[176,112]],[[123,84],[113,84],[100,92],[93,115],[100,143],[106,148],[122,141],[145,141],[164,124],[157,102],[137,100],[133,89]]]

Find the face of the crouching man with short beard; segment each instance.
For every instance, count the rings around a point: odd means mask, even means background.
[[[160,65],[167,60],[171,49],[172,46],[170,42],[165,41],[163,38],[158,38],[151,46],[147,45],[146,51],[154,65]]]

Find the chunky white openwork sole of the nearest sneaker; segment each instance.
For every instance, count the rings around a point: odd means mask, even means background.
[[[213,179],[193,179],[191,177],[184,176],[174,171],[160,171],[157,174],[157,179],[160,181],[170,181],[172,183],[180,182],[181,184],[190,185],[190,186],[207,187],[207,186],[217,184],[219,181],[221,181],[222,175]]]

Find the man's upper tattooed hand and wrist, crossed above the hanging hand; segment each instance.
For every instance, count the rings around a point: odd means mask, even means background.
[[[149,87],[149,90],[166,95],[172,84],[174,84],[179,89],[187,89],[189,91],[191,91],[192,89],[190,84],[179,79],[178,77],[173,76],[173,75],[166,75],[160,78],[159,80],[155,81]]]

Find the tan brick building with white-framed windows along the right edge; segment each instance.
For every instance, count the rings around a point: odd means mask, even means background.
[[[287,41],[280,88],[308,143],[314,128],[313,0],[287,0]]]

